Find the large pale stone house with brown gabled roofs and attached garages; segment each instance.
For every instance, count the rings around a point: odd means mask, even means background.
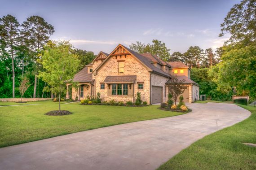
[[[148,104],[165,102],[172,75],[185,80],[185,102],[199,99],[199,85],[190,79],[187,65],[165,62],[150,53],[139,54],[119,44],[110,54],[100,52],[75,74],[77,87],[67,84],[66,98],[83,100],[100,92],[102,100],[135,102],[136,93],[141,92],[141,99]]]

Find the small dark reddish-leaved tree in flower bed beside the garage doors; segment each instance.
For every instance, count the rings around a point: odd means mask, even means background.
[[[172,76],[172,78],[168,81],[169,93],[172,95],[175,105],[178,96],[185,91],[185,89],[182,88],[184,81],[185,80],[179,80],[177,76]]]

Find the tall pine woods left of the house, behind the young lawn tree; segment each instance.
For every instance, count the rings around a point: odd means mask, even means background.
[[[12,15],[0,18],[0,98],[23,96],[18,88],[23,79],[28,79],[31,85],[25,97],[51,96],[50,92],[43,91],[48,83],[38,74],[44,70],[42,53],[54,32],[54,27],[40,16],[28,17],[22,23]],[[72,52],[78,57],[78,70],[95,57],[86,50],[73,48]]]

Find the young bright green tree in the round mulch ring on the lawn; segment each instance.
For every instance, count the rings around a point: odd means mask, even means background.
[[[72,83],[79,61],[77,56],[71,53],[72,46],[69,42],[55,43],[55,45],[47,46],[43,53],[41,64],[44,71],[40,72],[39,77],[59,95],[59,111],[61,111],[61,94],[66,90],[66,83]]]

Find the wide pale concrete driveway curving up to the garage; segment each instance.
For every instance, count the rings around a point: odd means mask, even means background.
[[[234,104],[188,104],[191,113],[0,148],[2,170],[154,170],[205,135],[251,113]]]

